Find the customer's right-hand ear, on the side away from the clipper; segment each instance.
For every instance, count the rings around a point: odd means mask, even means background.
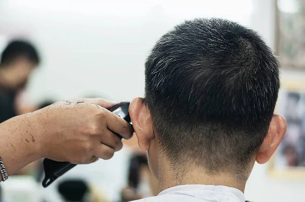
[[[280,145],[286,133],[287,123],[280,114],[273,115],[267,136],[256,155],[256,161],[260,164],[266,163]]]

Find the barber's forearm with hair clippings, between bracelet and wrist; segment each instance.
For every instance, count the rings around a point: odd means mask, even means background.
[[[39,128],[33,114],[11,118],[0,124],[0,156],[9,175],[41,158]],[[2,180],[2,176],[0,175]]]

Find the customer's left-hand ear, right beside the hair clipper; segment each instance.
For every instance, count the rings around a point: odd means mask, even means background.
[[[151,140],[153,140],[153,121],[150,112],[143,99],[136,97],[129,106],[129,114],[133,128],[138,138],[138,144],[142,150],[148,150]]]

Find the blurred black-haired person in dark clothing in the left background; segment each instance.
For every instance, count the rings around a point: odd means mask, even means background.
[[[38,51],[29,42],[14,40],[4,49],[0,63],[0,123],[21,114],[22,90],[39,62]]]

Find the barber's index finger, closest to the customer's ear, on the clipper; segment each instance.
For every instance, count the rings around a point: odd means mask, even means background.
[[[128,140],[132,137],[133,129],[123,118],[105,110],[107,128],[112,132],[119,134],[124,139]]]

